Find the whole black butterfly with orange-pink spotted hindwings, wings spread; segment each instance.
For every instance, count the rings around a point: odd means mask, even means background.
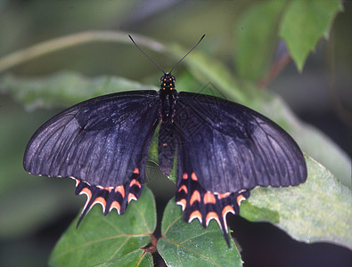
[[[289,134],[258,112],[177,93],[171,71],[160,78],[159,92],[103,95],[54,116],[29,141],[23,166],[30,174],[76,180],[76,194],[87,196],[78,223],[97,203],[104,214],[114,208],[124,214],[142,193],[160,124],[160,169],[169,174],[176,154],[176,203],[184,220],[197,218],[207,227],[215,219],[230,244],[226,214],[239,214],[241,200],[256,186],[305,182],[305,158]]]

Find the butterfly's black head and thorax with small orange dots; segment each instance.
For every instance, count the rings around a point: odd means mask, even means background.
[[[160,101],[162,121],[173,122],[176,105],[175,77],[168,72],[160,77]]]

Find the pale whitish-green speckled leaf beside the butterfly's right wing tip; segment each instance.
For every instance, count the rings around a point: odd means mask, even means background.
[[[306,157],[306,161],[307,182],[252,190],[241,204],[241,216],[274,223],[300,241],[332,242],[352,249],[351,190],[314,159]]]

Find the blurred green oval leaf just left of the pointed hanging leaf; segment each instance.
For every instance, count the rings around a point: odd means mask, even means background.
[[[286,1],[265,1],[253,4],[234,31],[234,62],[237,74],[250,80],[266,75],[274,48],[278,22]]]

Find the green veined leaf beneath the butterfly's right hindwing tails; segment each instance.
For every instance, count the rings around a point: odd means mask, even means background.
[[[217,223],[204,229],[198,220],[185,223],[181,207],[171,199],[166,206],[158,251],[168,266],[241,266],[241,256],[231,239],[227,247]]]

